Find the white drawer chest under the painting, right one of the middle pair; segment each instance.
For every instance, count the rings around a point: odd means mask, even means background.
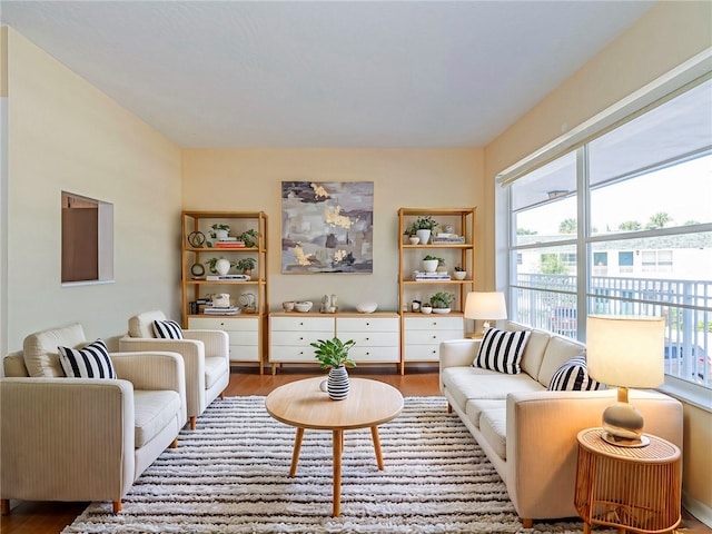
[[[356,363],[400,363],[400,325],[397,315],[389,317],[337,317],[336,335],[356,342],[349,356]]]

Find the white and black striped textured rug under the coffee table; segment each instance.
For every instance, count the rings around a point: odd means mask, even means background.
[[[63,532],[582,532],[573,520],[523,528],[504,483],[443,397],[406,397],[379,435],[384,471],[368,429],[345,433],[342,515],[332,517],[332,433],[305,431],[289,478],[295,428],[267,414],[265,397],[217,399],[134,484],[119,514],[92,503]]]

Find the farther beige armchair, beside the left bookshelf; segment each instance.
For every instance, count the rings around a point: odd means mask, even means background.
[[[162,312],[145,312],[129,319],[129,332],[119,339],[119,350],[171,350],[184,357],[186,402],[190,428],[196,418],[230,382],[229,338],[222,330],[182,330],[184,339],[161,339],[154,334],[154,320],[166,320]]]

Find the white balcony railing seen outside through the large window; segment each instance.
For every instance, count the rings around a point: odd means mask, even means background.
[[[513,287],[517,323],[582,338],[576,277],[520,274]],[[653,315],[665,320],[665,373],[712,387],[712,281],[591,277],[589,314]]]

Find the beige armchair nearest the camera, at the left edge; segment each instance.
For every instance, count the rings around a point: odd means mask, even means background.
[[[118,378],[67,378],[57,347],[83,345],[75,324],[32,334],[3,358],[2,515],[10,500],[111,501],[118,513],[139,475],[178,444],[187,421],[182,358],[110,354]]]

